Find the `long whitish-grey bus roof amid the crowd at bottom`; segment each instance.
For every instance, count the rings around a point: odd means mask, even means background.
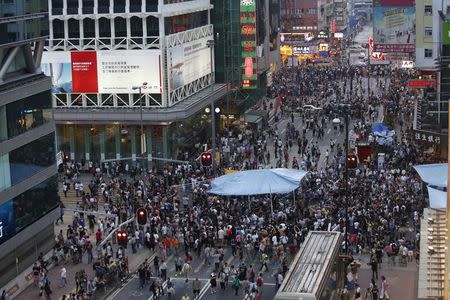
[[[275,299],[334,299],[337,294],[336,277],[339,277],[336,274],[342,274],[335,266],[340,265],[336,262],[340,261],[343,240],[340,232],[311,231],[295,256]]]

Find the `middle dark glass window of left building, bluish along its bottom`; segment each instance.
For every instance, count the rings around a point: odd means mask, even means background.
[[[55,134],[51,133],[9,153],[12,185],[55,163],[54,141]]]

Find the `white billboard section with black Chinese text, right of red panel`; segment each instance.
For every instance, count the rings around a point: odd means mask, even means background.
[[[158,50],[97,51],[97,70],[99,93],[139,93],[144,82],[143,93],[161,93]]]

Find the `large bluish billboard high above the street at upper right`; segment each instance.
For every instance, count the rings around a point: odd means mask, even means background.
[[[415,51],[416,24],[413,1],[374,1],[373,23],[375,51]]]

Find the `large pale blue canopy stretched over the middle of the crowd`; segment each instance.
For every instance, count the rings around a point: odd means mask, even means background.
[[[221,196],[285,194],[298,188],[306,173],[284,168],[241,171],[213,179],[209,192]]]

